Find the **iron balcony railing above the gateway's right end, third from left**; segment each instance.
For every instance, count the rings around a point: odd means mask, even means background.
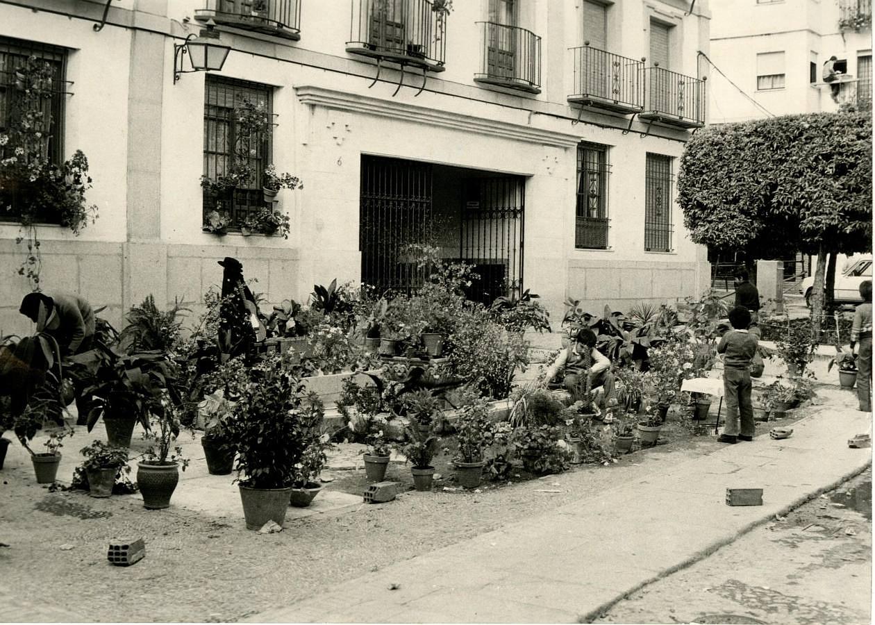
[[[480,67],[474,81],[541,93],[541,38],[517,26],[477,24]]]

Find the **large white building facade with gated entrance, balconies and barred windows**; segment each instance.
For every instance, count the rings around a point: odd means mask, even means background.
[[[407,288],[411,244],[473,263],[483,298],[540,294],[554,319],[569,296],[598,312],[706,288],[674,198],[706,114],[708,4],[456,0],[442,17],[433,2],[0,2],[0,104],[23,59],[55,64],[50,151],[85,152],[99,208],[79,236],[38,226],[42,288],[78,291],[118,324],[150,293],[196,304],[224,256],[269,303],[335,277]],[[224,66],[174,81],[176,46],[207,19],[231,47]],[[272,131],[216,235],[204,226],[221,198],[200,177],[227,173],[244,101],[267,107]],[[269,164],[304,181],[273,205],[288,239],[237,228],[269,206]],[[26,249],[14,211],[3,219],[0,332],[27,332]]]

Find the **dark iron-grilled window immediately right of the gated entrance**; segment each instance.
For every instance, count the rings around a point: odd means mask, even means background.
[[[577,208],[574,247],[607,249],[607,177],[611,173],[605,145],[577,145]]]

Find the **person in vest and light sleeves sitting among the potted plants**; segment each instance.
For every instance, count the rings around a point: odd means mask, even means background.
[[[596,341],[596,334],[592,330],[588,328],[578,330],[574,341],[556,355],[556,360],[544,375],[543,384],[546,386],[553,378],[561,376],[563,386],[570,390],[571,398],[577,401],[580,399],[577,394],[581,389],[581,378],[589,376],[590,388],[598,395],[598,407],[604,412],[614,398],[613,374],[611,361],[596,349]],[[589,369],[584,358],[586,353],[590,355]]]

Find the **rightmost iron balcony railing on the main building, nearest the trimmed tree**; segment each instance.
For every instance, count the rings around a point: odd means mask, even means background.
[[[705,125],[704,80],[662,67],[648,67],[643,75],[647,97],[644,111],[638,115],[641,119],[680,128],[701,128]]]

